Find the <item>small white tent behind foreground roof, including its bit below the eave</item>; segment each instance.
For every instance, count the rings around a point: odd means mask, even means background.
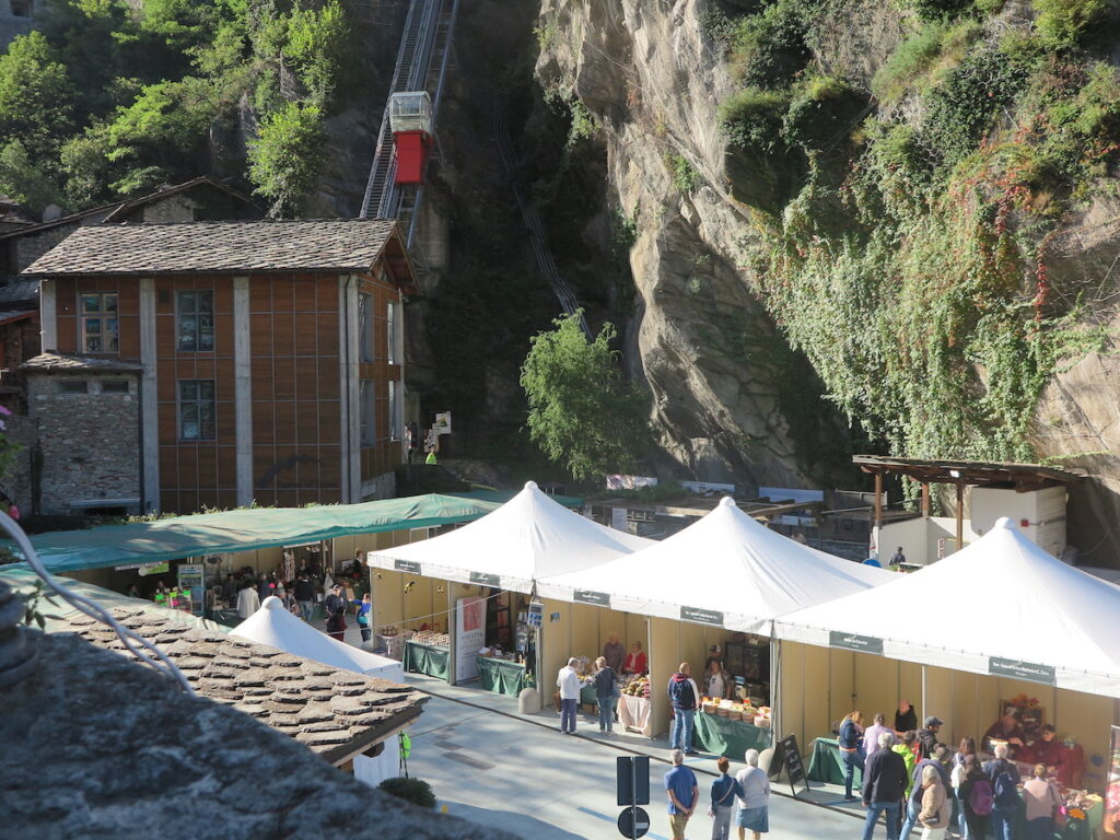
[[[404,682],[404,669],[400,662],[366,653],[320,633],[284,609],[283,603],[274,595],[265,598],[261,608],[230,631],[230,635],[270,645],[324,665]],[[400,746],[393,737],[385,741],[381,755],[357,756],[354,759],[354,776],[376,787],[384,780],[399,775],[400,760]]]

